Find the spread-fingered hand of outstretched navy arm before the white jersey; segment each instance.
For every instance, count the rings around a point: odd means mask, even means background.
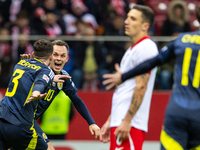
[[[104,74],[103,78],[105,79],[102,83],[106,86],[106,90],[110,90],[115,86],[122,83],[121,76],[122,71],[120,70],[119,64],[115,64],[116,73],[114,74]]]

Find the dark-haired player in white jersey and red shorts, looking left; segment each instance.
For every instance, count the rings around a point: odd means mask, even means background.
[[[154,23],[151,8],[135,5],[127,14],[125,33],[133,43],[124,54],[120,70],[126,72],[158,54],[148,36]],[[100,141],[109,142],[110,150],[142,150],[148,131],[149,108],[156,68],[120,84],[112,97],[111,115],[101,128]],[[117,140],[116,140],[117,139]]]

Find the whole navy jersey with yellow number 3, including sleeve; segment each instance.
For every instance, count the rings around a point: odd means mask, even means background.
[[[32,124],[38,100],[26,104],[32,91],[44,93],[52,83],[53,71],[38,59],[19,61],[13,70],[5,97],[0,103],[0,118],[14,125]]]

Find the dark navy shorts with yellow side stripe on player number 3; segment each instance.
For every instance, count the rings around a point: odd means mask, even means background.
[[[7,150],[47,150],[48,146],[43,137],[36,133],[35,128],[16,126],[0,119],[0,149]]]

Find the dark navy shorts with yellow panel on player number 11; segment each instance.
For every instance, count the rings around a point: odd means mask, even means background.
[[[196,111],[200,113],[199,110]],[[177,116],[175,110],[174,115],[166,113],[160,136],[161,150],[200,149],[200,121],[191,119],[191,112],[182,109],[182,113],[185,114],[184,117]]]

